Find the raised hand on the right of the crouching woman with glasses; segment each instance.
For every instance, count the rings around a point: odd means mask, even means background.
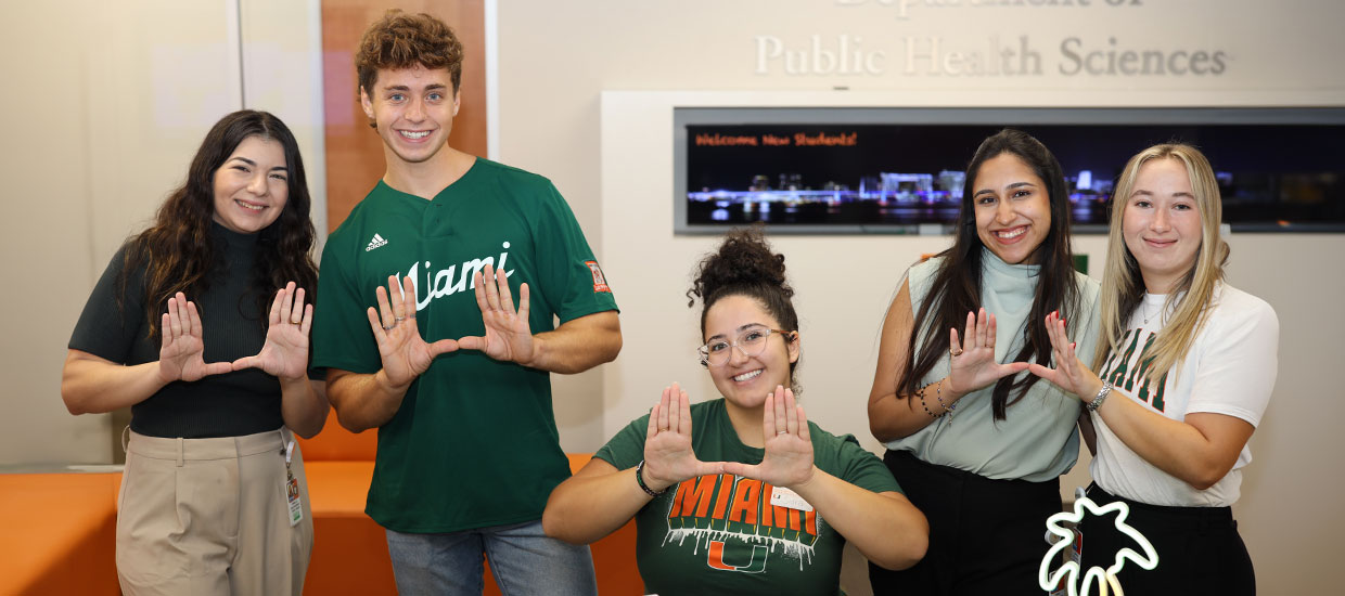
[[[792,389],[776,385],[775,393],[765,397],[761,434],[765,439],[765,456],[761,458],[761,463],[725,462],[725,473],[787,489],[812,481],[815,467],[808,417],[803,413],[803,405],[795,403]]]

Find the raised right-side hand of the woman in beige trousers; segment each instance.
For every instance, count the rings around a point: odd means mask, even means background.
[[[313,305],[304,305],[304,289],[295,282],[276,293],[266,319],[266,342],[257,356],[234,361],[234,370],[260,368],[278,379],[303,379],[308,373],[308,330],[313,324]]]

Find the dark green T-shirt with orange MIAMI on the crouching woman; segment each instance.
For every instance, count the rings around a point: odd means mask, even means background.
[[[617,470],[644,458],[648,415],[594,454]],[[808,423],[818,468],[874,493],[901,491],[886,466],[851,435]],[[691,405],[691,447],[702,462],[761,463],[765,452],[738,440],[722,399]],[[635,557],[644,591],[675,595],[834,595],[845,537],[816,510],[771,503],[773,487],[733,474],[691,478],[635,514]]]

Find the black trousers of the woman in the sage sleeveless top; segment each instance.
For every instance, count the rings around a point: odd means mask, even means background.
[[[929,519],[929,550],[907,570],[869,564],[874,595],[1042,595],[1037,569],[1060,513],[1060,481],[994,481],[925,463],[908,451],[882,458]],[[1138,592],[1137,592],[1138,593]]]

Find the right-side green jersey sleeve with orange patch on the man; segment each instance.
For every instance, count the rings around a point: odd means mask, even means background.
[[[542,192],[542,213],[535,220],[539,278],[553,294],[561,322],[605,310],[617,310],[612,287],[593,256],[574,212],[560,191],[547,181]]]

